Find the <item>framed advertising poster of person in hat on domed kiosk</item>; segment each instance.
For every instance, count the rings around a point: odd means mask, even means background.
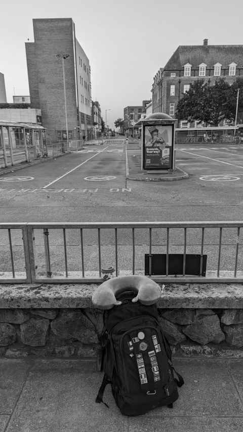
[[[144,169],[172,168],[173,126],[144,127]]]

